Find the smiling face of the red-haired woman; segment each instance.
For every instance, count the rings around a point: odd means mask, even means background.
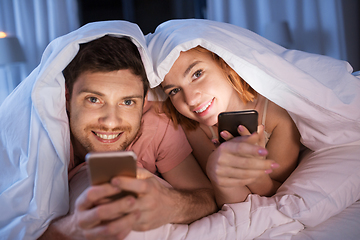
[[[217,124],[218,114],[235,111],[241,100],[211,53],[181,52],[161,83],[174,107],[201,124]]]

